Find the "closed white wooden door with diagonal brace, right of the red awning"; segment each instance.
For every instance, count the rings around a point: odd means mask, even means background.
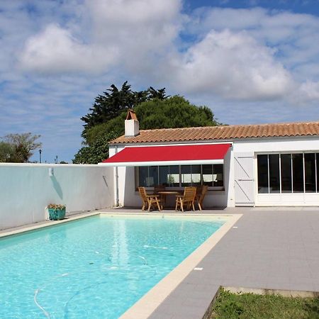
[[[234,154],[235,206],[254,206],[254,155]]]

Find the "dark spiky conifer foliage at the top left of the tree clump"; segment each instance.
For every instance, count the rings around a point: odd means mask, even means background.
[[[150,86],[145,91],[132,91],[127,81],[123,83],[121,89],[112,84],[111,89],[107,89],[103,95],[96,96],[93,106],[89,108],[90,112],[81,118],[85,123],[82,137],[86,140],[87,130],[116,118],[128,108],[133,108],[144,101],[166,99],[166,97],[165,88],[156,90]]]

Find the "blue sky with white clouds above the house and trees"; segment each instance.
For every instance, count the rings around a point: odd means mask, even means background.
[[[230,125],[319,120],[319,0],[0,0],[0,47],[0,137],[41,135],[43,162],[125,81]]]

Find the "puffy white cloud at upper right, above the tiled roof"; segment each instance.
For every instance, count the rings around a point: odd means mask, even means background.
[[[209,91],[227,99],[276,99],[293,87],[273,50],[245,32],[211,31],[176,64],[172,77],[186,92]]]

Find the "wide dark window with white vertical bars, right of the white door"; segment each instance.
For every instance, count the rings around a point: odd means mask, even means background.
[[[258,193],[315,193],[319,153],[257,155]]]

